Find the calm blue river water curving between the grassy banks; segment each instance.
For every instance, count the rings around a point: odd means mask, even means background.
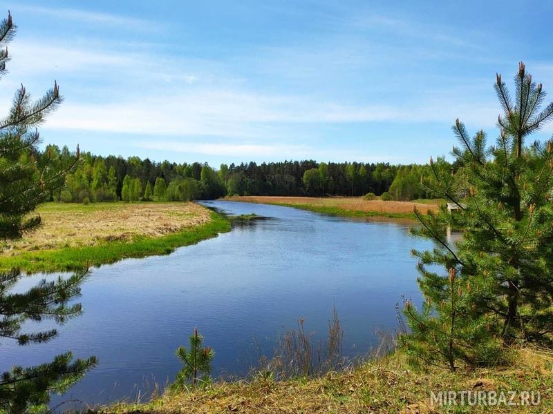
[[[180,368],[175,350],[188,344],[194,326],[216,351],[214,376],[241,375],[260,352],[270,355],[277,335],[297,327],[299,317],[324,337],[332,304],[344,353],[366,353],[376,331],[396,328],[394,306],[402,295],[419,297],[410,251],[431,242],[410,236],[409,224],[230,201],[205,205],[272,219],[171,255],[93,270],[82,286],[84,315],[48,344],[3,341],[0,369],[48,362],[71,349],[77,357],[96,355],[100,364],[53,404],[133,399],[153,382],[173,380]],[[36,280],[26,278],[20,288]]]

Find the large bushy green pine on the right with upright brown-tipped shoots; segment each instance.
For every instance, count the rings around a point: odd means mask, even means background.
[[[422,180],[430,193],[457,209],[449,213],[444,206],[427,216],[415,212],[422,225],[415,233],[438,245],[433,251],[414,252],[427,302],[422,312],[406,305],[413,335],[403,336],[402,342],[415,357],[443,359],[443,352],[432,350],[451,326],[440,331],[435,325],[452,312],[458,326],[451,333],[448,357],[453,354],[471,364],[496,362],[502,342],[547,341],[553,331],[553,144],[526,145],[529,135],[553,118],[553,103],[540,111],[545,92],[523,63],[515,87],[512,99],[497,75],[495,89],[504,115],[498,117],[495,146],[487,146],[481,130],[471,138],[459,120],[453,126],[461,144],[453,147],[453,155],[463,167],[468,191],[458,190],[444,161],[431,159],[433,179]],[[451,244],[447,228],[462,229],[462,239]],[[456,286],[449,287],[447,277],[427,268],[435,264],[455,273]],[[465,298],[456,310],[442,306],[452,288]]]

